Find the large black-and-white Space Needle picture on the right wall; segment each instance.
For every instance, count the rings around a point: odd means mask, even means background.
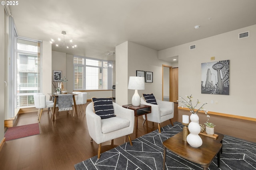
[[[229,95],[229,60],[201,64],[201,94]]]

